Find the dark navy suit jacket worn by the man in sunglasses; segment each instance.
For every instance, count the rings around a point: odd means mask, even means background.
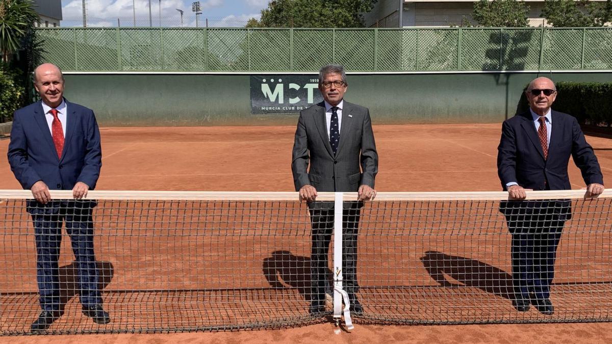
[[[572,189],[567,175],[570,155],[587,185],[603,184],[597,157],[584,139],[578,121],[569,114],[553,110],[551,122],[548,159],[544,160],[531,112],[504,121],[498,146],[498,175],[504,190],[507,190],[506,184],[512,181],[533,190]],[[502,202],[500,211],[507,217],[518,213],[550,215],[551,212],[558,215],[555,220],[569,220],[571,217],[569,201]]]

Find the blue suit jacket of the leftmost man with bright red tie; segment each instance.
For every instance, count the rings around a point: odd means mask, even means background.
[[[50,190],[71,190],[76,182],[95,189],[102,167],[102,149],[94,112],[65,102],[68,113],[61,158],[55,150],[42,102],[13,114],[7,155],[23,189],[31,189],[37,181],[45,182]]]

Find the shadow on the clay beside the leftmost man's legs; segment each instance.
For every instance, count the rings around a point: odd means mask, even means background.
[[[114,267],[110,261],[96,262],[98,268],[98,290],[103,291],[114,276]],[[64,314],[66,304],[79,293],[78,268],[76,263],[59,267],[59,312]]]

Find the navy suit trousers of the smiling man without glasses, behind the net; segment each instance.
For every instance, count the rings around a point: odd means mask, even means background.
[[[78,272],[76,282],[81,304],[84,307],[102,304],[94,256],[94,225],[91,209],[61,208],[56,214],[32,214],[32,220],[40,307],[48,311],[60,310],[60,285],[68,282],[60,279],[72,278],[72,276],[59,275],[59,249],[64,222],[75,255],[75,269]]]

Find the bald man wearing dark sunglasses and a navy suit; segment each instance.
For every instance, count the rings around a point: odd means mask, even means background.
[[[569,200],[521,201],[525,190],[572,189],[567,176],[570,155],[580,168],[587,197],[603,192],[602,171],[578,121],[551,110],[557,91],[553,81],[536,78],[526,91],[529,111],[507,119],[498,147],[498,174],[512,201],[500,204],[512,233],[513,306],[526,312],[532,304],[552,315],[550,285]]]

